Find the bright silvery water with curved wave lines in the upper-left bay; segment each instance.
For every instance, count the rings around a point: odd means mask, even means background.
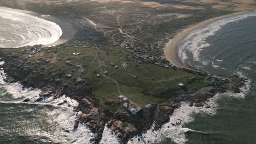
[[[59,25],[28,11],[0,7],[0,13],[0,47],[47,45],[62,35]]]

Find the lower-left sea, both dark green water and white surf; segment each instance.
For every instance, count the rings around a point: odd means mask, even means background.
[[[73,129],[79,113],[74,111],[77,101],[60,95],[34,102],[40,89],[6,83],[4,70],[0,73],[0,143],[90,143],[94,139],[84,123]],[[23,102],[27,98],[31,101]],[[59,105],[63,101],[67,103]]]

